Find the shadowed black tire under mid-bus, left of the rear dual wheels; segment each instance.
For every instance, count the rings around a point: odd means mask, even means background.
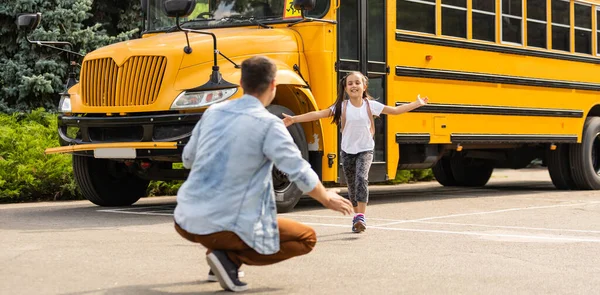
[[[452,175],[459,186],[484,186],[492,177],[494,165],[492,161],[465,158],[455,154],[450,160]]]

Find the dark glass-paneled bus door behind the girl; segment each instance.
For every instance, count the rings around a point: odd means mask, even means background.
[[[359,71],[369,77],[368,92],[382,104],[386,104],[386,1],[343,0],[338,10],[338,81],[348,72]],[[339,84],[339,83],[338,83]],[[338,89],[339,91],[341,89]],[[388,179],[386,167],[385,116],[375,119],[375,151],[369,181]],[[341,136],[338,137],[338,159],[341,153]],[[338,182],[346,183],[338,161]]]

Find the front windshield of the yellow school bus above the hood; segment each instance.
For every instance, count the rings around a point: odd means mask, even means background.
[[[175,26],[175,19],[162,11],[163,0],[150,0],[146,31],[167,31]],[[307,16],[322,17],[329,8],[329,0],[317,1]],[[257,23],[273,23],[298,18],[291,0],[196,0],[194,11],[180,18],[181,26],[189,29],[247,26]]]

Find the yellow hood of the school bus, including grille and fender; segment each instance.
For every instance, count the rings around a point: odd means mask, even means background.
[[[275,61],[279,83],[305,85],[291,65],[301,64],[300,36],[287,28],[221,28],[218,50],[240,65],[253,55]],[[187,89],[205,84],[212,73],[213,38],[189,33],[192,52],[183,32],[161,33],[115,43],[89,53],[81,70],[81,86],[69,93],[73,113],[140,113],[169,110],[174,99]],[[107,62],[112,59],[114,64]],[[217,56],[222,78],[238,84],[240,69]],[[166,63],[164,62],[166,61]],[[116,73],[119,73],[118,75]],[[103,78],[104,77],[104,78]],[[106,77],[110,77],[108,79]],[[241,91],[234,97],[241,96]]]

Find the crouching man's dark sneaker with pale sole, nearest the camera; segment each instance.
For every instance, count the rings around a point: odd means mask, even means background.
[[[219,284],[225,290],[241,292],[248,290],[248,284],[238,278],[238,267],[223,251],[214,250],[206,255],[206,262],[217,276]]]

